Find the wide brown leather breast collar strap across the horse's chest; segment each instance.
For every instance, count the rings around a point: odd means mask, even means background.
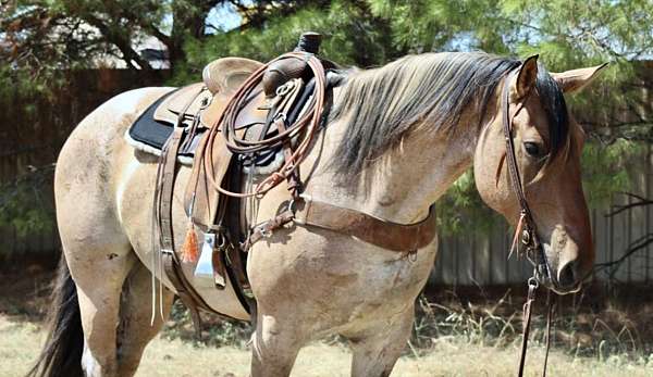
[[[250,244],[283,225],[294,222],[299,225],[337,231],[356,237],[365,242],[397,252],[415,252],[430,244],[436,235],[435,209],[431,206],[427,218],[415,224],[397,224],[333,204],[297,199],[288,210],[254,228]]]

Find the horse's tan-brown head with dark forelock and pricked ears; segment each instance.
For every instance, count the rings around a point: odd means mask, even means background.
[[[545,256],[541,262],[546,268],[540,280],[558,293],[576,291],[594,263],[580,175],[584,133],[567,113],[563,92],[582,89],[602,67],[549,74],[538,66],[537,56],[527,59],[509,83],[504,81],[508,91],[501,85],[496,90],[496,112],[491,112],[496,116],[482,129],[475,155],[481,197],[518,227],[523,209],[510,181],[505,102],[502,105],[505,93],[516,166],[541,242],[538,253]]]

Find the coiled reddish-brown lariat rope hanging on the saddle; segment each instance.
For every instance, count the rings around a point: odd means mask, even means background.
[[[308,108],[303,112],[303,115],[292,125],[286,125],[285,130],[279,131],[278,135],[262,140],[245,140],[236,136],[236,120],[242,109],[242,104],[261,83],[263,74],[270,64],[283,59],[300,59],[306,61],[316,79],[316,86],[311,96]],[[238,90],[229,100],[218,122],[211,125],[208,131],[204,148],[198,150],[200,155],[199,163],[204,168],[207,180],[220,193],[234,198],[262,197],[268,191],[276,187],[282,181],[297,172],[299,164],[305,159],[308,148],[320,126],[322,111],[324,109],[324,92],[325,92],[325,73],[322,63],[313,54],[306,52],[289,52],[285,53],[271,62],[262,65],[254,72]],[[285,122],[285,121],[284,121]],[[218,133],[222,131],[226,140],[226,147],[234,154],[254,154],[261,151],[272,150],[282,147],[289,139],[299,137],[297,146],[293,149],[292,154],[285,158],[284,164],[261,183],[259,183],[251,192],[233,192],[221,187],[220,183],[215,181],[213,174],[213,165],[211,156],[213,155],[213,146]],[[301,135],[300,135],[301,134]]]

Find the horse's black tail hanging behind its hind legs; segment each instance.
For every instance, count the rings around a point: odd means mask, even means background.
[[[27,377],[84,376],[82,370],[84,332],[77,289],[63,255],[57,275],[48,321],[50,334],[36,365],[29,370]]]

